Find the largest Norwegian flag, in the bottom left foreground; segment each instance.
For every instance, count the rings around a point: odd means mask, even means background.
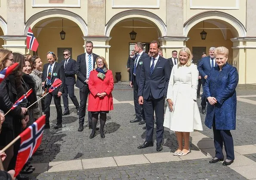
[[[25,129],[19,136],[21,143],[15,165],[16,177],[22,170],[25,163],[37,150],[43,138],[43,127],[45,126],[45,115],[41,116],[31,126]]]

